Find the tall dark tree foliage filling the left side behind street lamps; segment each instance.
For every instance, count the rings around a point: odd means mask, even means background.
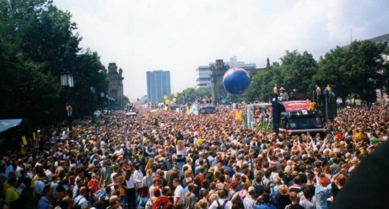
[[[77,117],[91,115],[107,91],[106,69],[97,53],[82,51],[71,15],[47,0],[0,0],[0,118],[62,120],[66,94],[60,73],[74,75],[72,106]]]

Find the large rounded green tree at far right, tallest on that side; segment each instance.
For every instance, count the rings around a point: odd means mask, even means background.
[[[385,45],[371,40],[353,41],[350,46],[337,46],[320,58],[314,82],[325,87],[332,84],[336,96],[343,101],[351,95],[364,101],[376,99],[375,89],[384,85]]]

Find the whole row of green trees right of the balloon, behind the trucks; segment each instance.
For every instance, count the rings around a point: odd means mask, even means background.
[[[384,62],[383,54],[389,54],[389,49],[371,40],[337,46],[318,62],[307,51],[303,54],[286,51],[280,58],[281,64],[273,63],[253,76],[244,97],[247,101],[268,101],[277,83],[278,87],[284,85],[289,95],[296,89],[295,96],[308,99],[312,98],[315,84],[322,90],[331,84],[337,97],[355,96],[371,102],[376,99],[376,89],[388,87],[389,64]]]

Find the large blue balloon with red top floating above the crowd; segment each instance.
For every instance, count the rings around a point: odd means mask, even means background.
[[[230,68],[223,76],[223,86],[228,93],[241,94],[250,86],[250,75],[243,68]]]

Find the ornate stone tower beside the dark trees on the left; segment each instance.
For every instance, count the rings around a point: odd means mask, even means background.
[[[115,99],[115,105],[118,106],[119,109],[123,106],[123,70],[116,66],[116,63],[108,64],[108,94]]]

